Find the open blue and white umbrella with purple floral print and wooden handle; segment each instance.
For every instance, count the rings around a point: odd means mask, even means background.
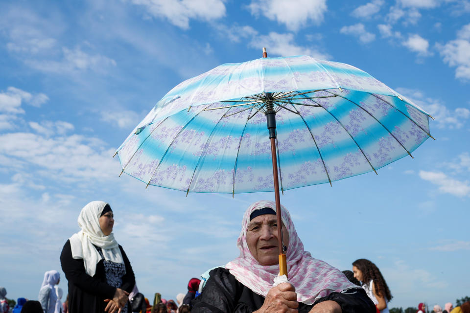
[[[280,191],[411,156],[431,137],[428,117],[356,67],[305,55],[267,58],[263,48],[263,58],[215,67],[171,89],[116,154],[121,174],[146,187],[274,191],[281,225]]]

